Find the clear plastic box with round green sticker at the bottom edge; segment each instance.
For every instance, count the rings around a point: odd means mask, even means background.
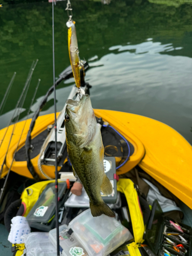
[[[75,237],[74,232],[72,234],[68,233],[68,226],[66,224],[59,227],[59,245],[60,252],[65,256],[88,256],[87,251],[80,244],[80,242]],[[57,246],[56,239],[56,228],[49,231],[49,240],[52,242],[54,247]]]

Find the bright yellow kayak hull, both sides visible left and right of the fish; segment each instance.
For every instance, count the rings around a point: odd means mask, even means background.
[[[191,145],[178,132],[172,129],[172,127],[154,119],[117,111],[94,111],[97,117],[101,117],[103,121],[113,126],[134,147],[134,152],[130,156],[129,161],[117,170],[117,174],[120,175],[129,172],[133,167],[139,165],[146,173],[160,182],[192,209]],[[28,119],[18,150],[25,145],[30,122],[31,119]],[[46,133],[48,125],[53,123],[54,114],[38,117],[32,132],[32,139],[38,135],[40,136],[42,132]],[[24,121],[16,124],[2,177],[6,176],[8,168],[11,165],[23,125]],[[0,140],[4,136],[5,129],[0,131]],[[6,145],[8,145],[11,131],[12,127],[10,126],[1,147],[1,163],[5,157]],[[31,162],[39,177],[45,179],[38,170],[38,157],[39,154],[33,157]],[[58,170],[60,168],[61,165],[58,166]],[[55,167],[53,165],[42,165],[42,169],[51,178],[55,177]],[[14,160],[11,170],[19,175],[33,178],[27,168],[27,161]]]

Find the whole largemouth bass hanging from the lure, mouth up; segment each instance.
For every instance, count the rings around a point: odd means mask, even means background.
[[[80,179],[89,196],[93,217],[115,217],[100,194],[112,194],[113,187],[104,173],[104,148],[90,97],[85,94],[79,102],[68,99],[66,103],[66,141],[74,176]]]

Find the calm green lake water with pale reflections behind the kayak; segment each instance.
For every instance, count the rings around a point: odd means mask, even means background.
[[[192,144],[192,1],[72,0],[80,57],[89,61],[93,108],[130,112],[162,121]],[[166,4],[165,4],[166,3]],[[69,64],[66,1],[55,7],[55,73]],[[52,5],[0,8],[0,100],[17,72],[0,128],[7,125],[32,60],[38,58],[21,118],[37,79],[32,112],[52,86]],[[57,88],[61,110],[74,80]],[[53,95],[41,115],[53,112]],[[33,113],[31,113],[32,116]]]

